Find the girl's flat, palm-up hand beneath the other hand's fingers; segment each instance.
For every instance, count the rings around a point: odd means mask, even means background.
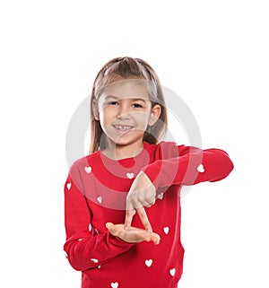
[[[142,241],[152,241],[155,245],[160,243],[160,236],[153,232],[148,232],[143,229],[130,227],[129,230],[125,230],[124,224],[114,225],[113,223],[107,223],[106,227],[108,231],[114,235],[119,237],[120,239],[128,242],[128,243],[138,243]]]

